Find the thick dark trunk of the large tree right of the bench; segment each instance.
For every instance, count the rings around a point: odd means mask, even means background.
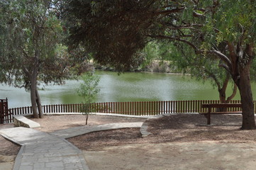
[[[243,110],[243,124],[241,129],[256,129],[252,89],[250,86],[250,64],[246,64],[243,69],[240,69],[240,79],[237,80],[237,83]]]

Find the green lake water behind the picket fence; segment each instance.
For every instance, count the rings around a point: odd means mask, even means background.
[[[97,72],[100,76],[98,102],[113,101],[179,101],[218,100],[218,91],[209,81],[202,83],[190,76],[160,73],[128,72],[118,76],[116,72]],[[43,105],[81,103],[76,89],[81,81],[67,80],[62,86],[49,85],[40,90]],[[255,84],[252,84],[255,96]],[[232,86],[228,86],[228,94]],[[8,98],[9,108],[30,106],[30,94],[24,89],[0,84],[0,98]],[[240,99],[239,94],[235,99]]]

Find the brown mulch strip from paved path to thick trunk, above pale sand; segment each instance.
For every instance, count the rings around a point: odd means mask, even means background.
[[[97,151],[104,147],[138,143],[162,142],[256,142],[256,130],[240,130],[241,115],[212,115],[211,126],[206,118],[196,114],[165,115],[148,119],[152,135],[141,137],[139,128],[91,132],[69,138],[83,150]]]

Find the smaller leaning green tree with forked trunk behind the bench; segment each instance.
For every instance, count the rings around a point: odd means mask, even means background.
[[[169,53],[172,64],[199,81],[210,80],[213,87],[217,87],[221,103],[229,103],[235,97],[238,88],[230,74],[225,69],[220,69],[221,60],[211,56],[198,56],[186,44],[171,42],[169,46],[171,46],[169,49],[173,49]],[[230,96],[226,96],[229,83],[233,83],[233,92]]]

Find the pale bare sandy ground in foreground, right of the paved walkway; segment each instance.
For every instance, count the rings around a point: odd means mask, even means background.
[[[256,147],[216,142],[165,142],[84,151],[91,170],[253,170]]]

